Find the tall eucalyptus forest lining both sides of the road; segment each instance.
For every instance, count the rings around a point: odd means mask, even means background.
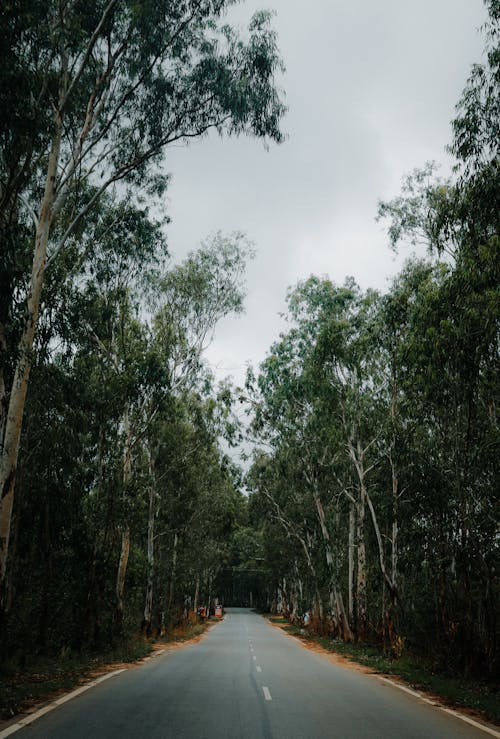
[[[0,660],[222,602],[493,677],[500,2],[453,175],[423,162],[379,204],[388,248],[427,256],[384,294],[300,280],[244,387],[205,350],[254,246],[218,232],[175,260],[164,205],[169,147],[284,140],[271,14],[242,33],[230,5],[0,8]]]

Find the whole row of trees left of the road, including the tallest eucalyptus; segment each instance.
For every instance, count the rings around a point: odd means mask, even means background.
[[[169,146],[282,139],[270,14],[239,31],[231,5],[1,5],[2,655],[164,631],[245,524],[203,351],[251,248],[216,234],[172,266],[163,199]]]

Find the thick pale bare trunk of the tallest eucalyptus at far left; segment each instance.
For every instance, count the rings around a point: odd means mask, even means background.
[[[27,300],[26,318],[19,340],[18,359],[10,392],[7,417],[4,419],[3,448],[0,461],[0,590],[7,571],[10,524],[14,505],[14,484],[16,477],[19,442],[28,390],[28,379],[32,365],[33,341],[35,338],[44,281],[44,268],[47,260],[47,246],[52,222],[52,208],[55,196],[55,180],[61,144],[61,121],[56,121],[56,133],[50,150],[45,190],[40,206],[33,253],[31,282]]]

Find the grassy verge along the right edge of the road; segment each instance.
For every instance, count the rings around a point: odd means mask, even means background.
[[[500,723],[500,686],[466,679],[439,672],[410,654],[403,654],[398,660],[391,659],[381,649],[370,644],[347,644],[340,640],[316,636],[285,619],[270,619],[283,626],[284,630],[304,641],[319,644],[323,649],[351,659],[369,667],[374,672],[400,677],[417,690],[439,696],[443,703],[459,708],[471,709],[490,721]]]

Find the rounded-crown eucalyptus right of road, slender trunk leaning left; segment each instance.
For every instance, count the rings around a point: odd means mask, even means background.
[[[321,379],[321,372],[332,357],[332,347],[325,348],[328,331],[331,331],[330,340],[336,337],[337,353],[346,350],[346,346],[340,346],[339,337],[343,331],[349,330],[348,319],[355,297],[356,289],[352,282],[340,289],[328,280],[315,277],[299,284],[289,295],[293,328],[272,347],[272,354],[263,364],[259,379],[264,398],[264,410],[260,416],[271,427],[269,438],[278,446],[289,444],[293,449],[292,459],[294,455],[300,455],[301,474],[312,497],[329,572],[330,611],[335,614],[338,628],[347,639],[352,638],[352,633],[339,583],[338,557],[335,556],[321,494],[321,489],[326,490],[328,504],[331,505],[332,468],[338,457],[343,456],[346,444],[342,438],[339,442],[338,434],[337,441],[334,441],[342,419],[342,388],[346,380],[332,385],[330,380],[325,382]],[[319,360],[319,354],[325,351],[329,359]],[[335,361],[334,352],[333,357]],[[330,468],[330,484],[325,487],[326,467]],[[338,547],[338,542],[335,546]],[[361,559],[362,541],[358,542],[358,552]],[[362,570],[360,578],[361,574]]]

